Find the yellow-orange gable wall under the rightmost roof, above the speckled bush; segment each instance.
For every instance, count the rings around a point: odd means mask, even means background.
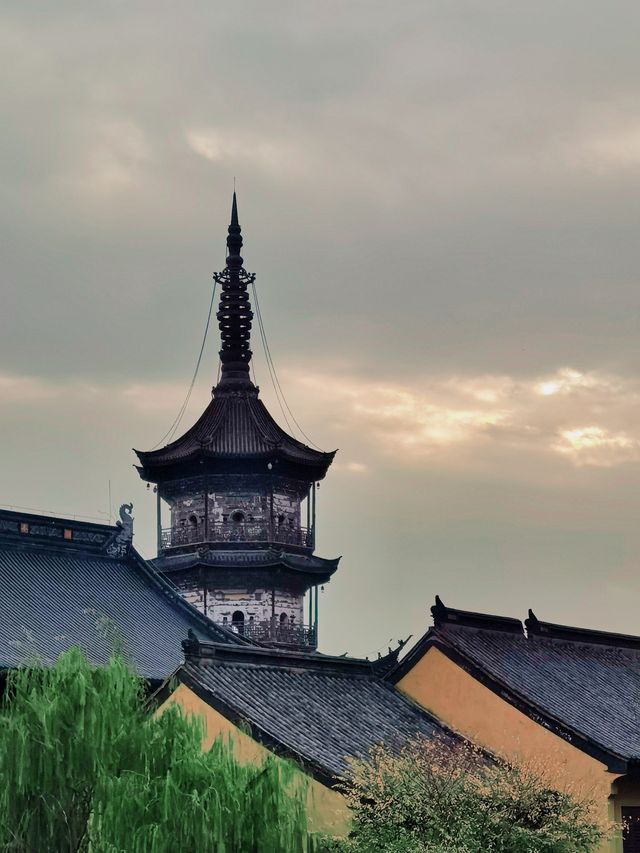
[[[538,768],[550,784],[592,799],[604,822],[619,816],[612,784],[619,774],[534,722],[432,647],[398,688],[457,732],[496,755]],[[636,800],[635,804],[640,800]],[[613,840],[603,851],[618,851]]]

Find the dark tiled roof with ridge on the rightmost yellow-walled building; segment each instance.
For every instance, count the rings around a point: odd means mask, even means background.
[[[624,772],[640,760],[640,637],[445,607],[400,662],[435,646],[523,713]]]

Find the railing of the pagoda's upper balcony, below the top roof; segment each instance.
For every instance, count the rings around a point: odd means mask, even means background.
[[[197,527],[169,527],[162,530],[161,549],[180,548],[185,545],[206,545],[208,543],[257,543],[265,545],[296,545],[300,548],[313,547],[313,535],[306,527],[285,527],[284,525],[264,524],[261,522],[209,522]]]

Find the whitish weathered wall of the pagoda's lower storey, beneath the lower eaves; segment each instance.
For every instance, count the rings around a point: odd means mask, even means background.
[[[186,576],[176,582],[182,597],[214,622],[231,625],[234,614],[242,613],[245,623],[266,622],[275,611],[278,623],[304,622],[304,598],[299,593],[274,590],[266,587],[238,585],[235,588],[225,583],[224,589],[203,581],[197,574]]]

